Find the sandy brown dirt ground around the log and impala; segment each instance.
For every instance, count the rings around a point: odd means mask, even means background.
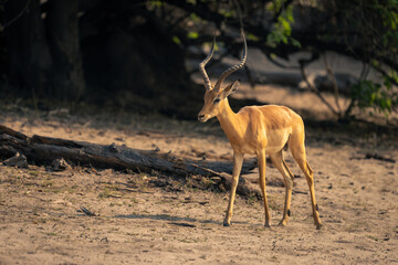
[[[30,136],[231,159],[217,121],[106,112],[71,115],[67,109],[34,113],[9,105],[0,124]],[[287,152],[296,179],[285,227],[276,226],[282,177],[273,167],[266,171],[272,230],[263,226],[261,201],[241,197],[232,226],[223,227],[228,192],[206,178],[201,188],[190,177],[168,177],[159,187],[156,180],[164,177],[157,172],[0,166],[0,264],[398,264],[397,162],[365,159],[367,153],[397,159],[398,137],[333,127],[307,127],[306,137],[321,231],[313,224],[306,181]],[[256,171],[245,178],[255,182]]]

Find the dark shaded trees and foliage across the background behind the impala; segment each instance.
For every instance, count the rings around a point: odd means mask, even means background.
[[[198,66],[187,62],[203,59],[216,31],[218,57],[210,65],[239,57],[242,25],[249,47],[281,68],[301,68],[298,78],[321,99],[322,87],[352,99],[347,109],[323,100],[334,115],[349,117],[355,107],[388,114],[398,104],[392,2],[15,0],[0,8],[0,94],[30,98],[35,108],[50,98],[193,117],[202,86],[191,81]],[[286,62],[301,51],[307,55],[295,66]],[[347,83],[335,74],[329,51],[362,62],[360,76]],[[307,75],[321,59],[325,74]],[[370,71],[381,77],[368,78]],[[250,65],[244,75],[254,86]]]

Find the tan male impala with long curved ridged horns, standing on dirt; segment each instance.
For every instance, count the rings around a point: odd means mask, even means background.
[[[258,157],[260,188],[264,201],[266,227],[271,227],[271,215],[265,192],[265,153],[271,157],[272,162],[282,173],[286,190],[283,218],[280,225],[286,225],[290,216],[294,178],[282,153],[283,147],[287,144],[294,160],[305,174],[310,187],[313,218],[316,229],[321,229],[322,222],[315,201],[313,170],[310,168],[305,155],[304,124],[302,118],[292,109],[275,105],[244,107],[235,114],[228,103],[228,96],[238,89],[239,81],[221,88],[227,76],[241,68],[245,63],[248,47],[243,31],[242,38],[244,43],[242,60],[237,65],[226,70],[217,81],[214,87],[211,85],[210,78],[206,73],[205,65],[213,54],[216,36],[208,56],[199,64],[200,72],[205,80],[206,94],[205,105],[198,115],[198,119],[201,123],[206,123],[208,119],[217,117],[233,149],[231,194],[223,225],[231,225],[233,201],[244,153],[256,155]]]

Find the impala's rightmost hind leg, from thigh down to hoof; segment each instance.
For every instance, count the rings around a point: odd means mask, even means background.
[[[305,179],[310,188],[311,204],[313,210],[313,218],[316,229],[322,227],[322,222],[320,218],[318,205],[315,200],[315,188],[314,188],[314,171],[311,169],[305,155],[304,147],[304,134],[293,137],[290,137],[289,147],[292,151],[294,160],[297,162],[300,169],[303,171]]]

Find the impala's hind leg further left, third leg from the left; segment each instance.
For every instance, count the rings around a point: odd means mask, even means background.
[[[287,224],[287,220],[290,216],[290,205],[291,205],[291,199],[292,199],[292,188],[293,188],[293,174],[287,168],[287,165],[283,160],[283,152],[282,150],[270,156],[273,165],[275,168],[281,172],[283,176],[283,182],[285,184],[285,202],[284,202],[284,209],[283,209],[283,216],[279,225],[285,226]]]

